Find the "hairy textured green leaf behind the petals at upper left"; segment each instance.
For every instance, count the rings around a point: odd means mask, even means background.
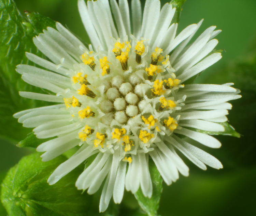
[[[8,125],[2,127],[0,138],[12,143],[18,142],[31,131],[23,128],[12,115],[21,110],[49,104],[22,98],[18,94],[20,90],[43,93],[42,89],[25,83],[15,67],[18,64],[33,65],[26,58],[26,51],[43,56],[34,46],[32,38],[42,32],[40,28],[54,23],[37,13],[27,13],[27,16],[29,19],[20,14],[13,0],[0,1],[0,124]]]

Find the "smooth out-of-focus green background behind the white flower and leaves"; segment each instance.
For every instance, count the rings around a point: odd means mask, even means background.
[[[88,36],[77,11],[76,0],[16,0],[21,13],[39,12],[61,22],[79,38]],[[161,1],[165,3],[167,1]],[[231,101],[229,123],[241,138],[218,136],[223,146],[207,149],[224,165],[222,170],[202,171],[187,161],[189,177],[181,177],[171,186],[164,185],[158,213],[169,215],[256,215],[256,1],[187,0],[179,30],[204,18],[201,26],[216,25],[223,30],[217,36],[217,49],[223,58],[196,80],[199,83],[234,82],[242,98]],[[25,137],[20,137],[22,140]],[[18,148],[1,140],[0,173],[15,165],[33,150]],[[3,175],[2,175],[3,176]],[[0,175],[0,178],[1,175]]]

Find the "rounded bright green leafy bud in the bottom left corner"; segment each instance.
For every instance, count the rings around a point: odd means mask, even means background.
[[[75,169],[56,184],[47,179],[66,157],[42,162],[39,153],[23,157],[7,173],[1,185],[1,200],[9,215],[85,215],[91,196],[81,194],[74,183],[81,173]],[[98,210],[98,209],[97,209]]]

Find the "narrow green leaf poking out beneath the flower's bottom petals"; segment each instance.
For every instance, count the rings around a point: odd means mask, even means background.
[[[149,160],[150,175],[153,184],[153,194],[151,198],[144,197],[141,188],[135,193],[135,197],[138,200],[140,207],[150,216],[157,215],[159,202],[162,193],[162,178],[156,168],[155,163]]]

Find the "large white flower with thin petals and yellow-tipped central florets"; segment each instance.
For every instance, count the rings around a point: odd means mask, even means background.
[[[212,38],[221,32],[215,26],[190,43],[202,20],[176,34],[175,8],[169,3],[160,10],[159,0],[147,0],[142,16],[140,1],[132,0],[131,18],[127,0],[119,0],[119,5],[110,0],[110,5],[107,0],[87,5],[78,1],[92,44],[88,47],[60,23],[57,30],[47,28],[33,38],[50,61],[26,53],[45,70],[18,65],[17,71],[24,81],[51,94],[20,95],[58,104],[14,115],[24,127],[34,128],[38,138],[57,136],[38,146],[37,151],[45,152],[43,161],[81,146],[57,167],[49,184],[96,155],[76,186],[93,194],[104,182],[100,212],[112,196],[120,203],[124,188],[135,193],[141,187],[144,196],[152,196],[149,157],[168,185],[179,178],[179,172],[188,176],[189,169],[176,151],[201,169],[222,168],[215,157],[189,142],[211,148],[221,143],[188,128],[224,131],[218,122],[227,121],[231,109],[227,101],[240,98],[232,83],[184,85],[221,59],[221,53],[214,51],[218,41]]]

